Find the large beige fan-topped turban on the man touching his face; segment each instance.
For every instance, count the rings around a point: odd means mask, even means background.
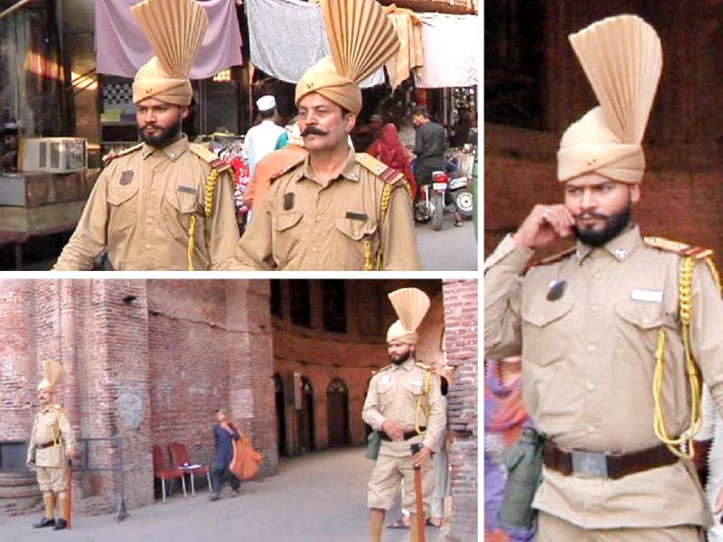
[[[569,40],[600,105],[562,135],[558,180],[599,173],[615,181],[641,182],[641,143],[662,70],[658,34],[636,15],[619,15],[593,23]]]

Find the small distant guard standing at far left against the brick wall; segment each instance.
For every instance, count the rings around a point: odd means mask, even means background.
[[[75,457],[75,435],[65,409],[54,405],[55,386],[65,374],[60,363],[46,361],[43,364],[45,378],[38,384],[40,411],[35,415],[33,430],[28,445],[27,466],[35,469],[38,477],[45,513],[33,528],[52,527],[53,530],[67,528],[68,502],[68,459]],[[56,500],[57,497],[57,500]],[[58,504],[58,519],[55,519],[55,505]]]

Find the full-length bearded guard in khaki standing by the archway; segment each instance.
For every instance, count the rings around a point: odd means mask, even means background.
[[[434,491],[431,457],[442,444],[446,425],[439,378],[414,357],[417,328],[427,313],[429,298],[417,288],[402,288],[389,297],[399,316],[387,332],[391,364],[371,378],[362,409],[364,422],[381,432],[379,456],[371,472],[367,497],[371,542],[380,542],[386,511],[394,504],[402,481],[402,507],[416,512],[415,467],[422,472],[422,500],[429,517]],[[421,444],[421,451],[412,455],[411,444]],[[416,513],[412,513],[412,542],[418,539],[417,525]]]

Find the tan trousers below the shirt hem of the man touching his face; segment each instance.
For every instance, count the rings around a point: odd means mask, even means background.
[[[564,519],[540,512],[536,542],[704,542],[702,528],[683,525],[670,528],[577,527]]]

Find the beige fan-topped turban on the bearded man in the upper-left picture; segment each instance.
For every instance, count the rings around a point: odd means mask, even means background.
[[[189,105],[193,91],[188,74],[209,25],[205,10],[193,0],[145,0],[131,11],[155,51],[136,73],[133,103],[156,98]]]

